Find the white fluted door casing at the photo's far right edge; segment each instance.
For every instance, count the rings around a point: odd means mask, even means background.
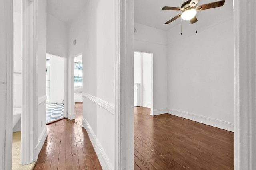
[[[234,0],[234,170],[256,167],[256,2]]]

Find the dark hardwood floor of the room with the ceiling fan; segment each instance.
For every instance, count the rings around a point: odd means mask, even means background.
[[[134,107],[134,169],[232,170],[233,133]]]

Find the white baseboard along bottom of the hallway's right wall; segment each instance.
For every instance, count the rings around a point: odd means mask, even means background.
[[[91,140],[92,145],[95,149],[95,152],[96,152],[96,154],[99,158],[102,169],[104,169],[104,170],[114,170],[106,152],[102,148],[100,142],[98,141],[98,139],[97,139],[94,131],[92,130],[92,127],[88,123],[88,121],[82,119],[82,127],[84,127],[84,129],[86,129],[86,131],[87,131],[87,133],[90,137],[90,140]]]

